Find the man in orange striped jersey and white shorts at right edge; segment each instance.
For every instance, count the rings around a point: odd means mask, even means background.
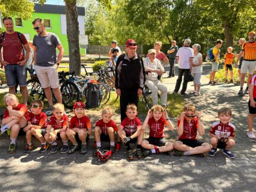
[[[249,32],[249,41],[247,43],[242,44],[241,52],[238,55],[238,59],[236,60],[236,65],[239,62],[239,59],[244,54],[244,60],[242,61],[241,66],[241,79],[240,79],[240,91],[239,95],[248,94],[248,87],[243,92],[245,75],[248,73],[247,81],[251,81],[252,74],[254,72],[255,64],[256,64],[256,42],[255,42],[255,32]]]

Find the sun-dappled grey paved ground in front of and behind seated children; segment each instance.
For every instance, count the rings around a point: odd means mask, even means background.
[[[176,78],[164,79],[169,92]],[[185,103],[194,103],[202,114],[206,133],[217,120],[217,110],[228,106],[233,110],[232,123],[236,126],[236,145],[232,149],[235,159],[226,158],[222,151],[215,157],[152,155],[128,161],[122,146],[108,162],[100,162],[92,156],[92,148],[86,155],[30,154],[22,152],[24,140],[14,154],[0,148],[1,191],[255,191],[256,144],[248,139],[246,119],[248,95],[237,95],[239,87],[231,84],[207,85],[202,77],[200,96],[186,95]],[[188,92],[193,84],[188,84]],[[99,111],[87,111],[92,123],[100,118]],[[140,116],[143,120],[143,116]],[[114,120],[120,123],[119,115]],[[177,124],[175,119],[175,124]],[[172,141],[176,130],[167,132]],[[209,142],[209,136],[203,138]],[[4,142],[5,141],[5,142]],[[7,143],[1,137],[1,145]],[[91,141],[90,146],[93,146]]]

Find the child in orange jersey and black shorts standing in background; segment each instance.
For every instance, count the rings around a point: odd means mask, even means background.
[[[225,69],[225,82],[228,83],[228,70],[230,71],[231,83],[233,83],[233,60],[235,58],[235,54],[232,53],[233,47],[228,47],[228,53],[224,55],[224,69]]]

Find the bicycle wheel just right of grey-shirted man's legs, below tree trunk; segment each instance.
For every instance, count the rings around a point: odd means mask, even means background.
[[[67,81],[60,87],[62,92],[62,102],[65,107],[72,108],[76,101],[80,101],[80,92],[76,84]]]

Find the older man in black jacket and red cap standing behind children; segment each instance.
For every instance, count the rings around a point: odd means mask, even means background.
[[[116,64],[116,92],[120,95],[121,121],[126,117],[128,104],[139,104],[139,96],[145,83],[145,69],[142,57],[136,53],[135,40],[126,41],[126,54],[120,55]]]

